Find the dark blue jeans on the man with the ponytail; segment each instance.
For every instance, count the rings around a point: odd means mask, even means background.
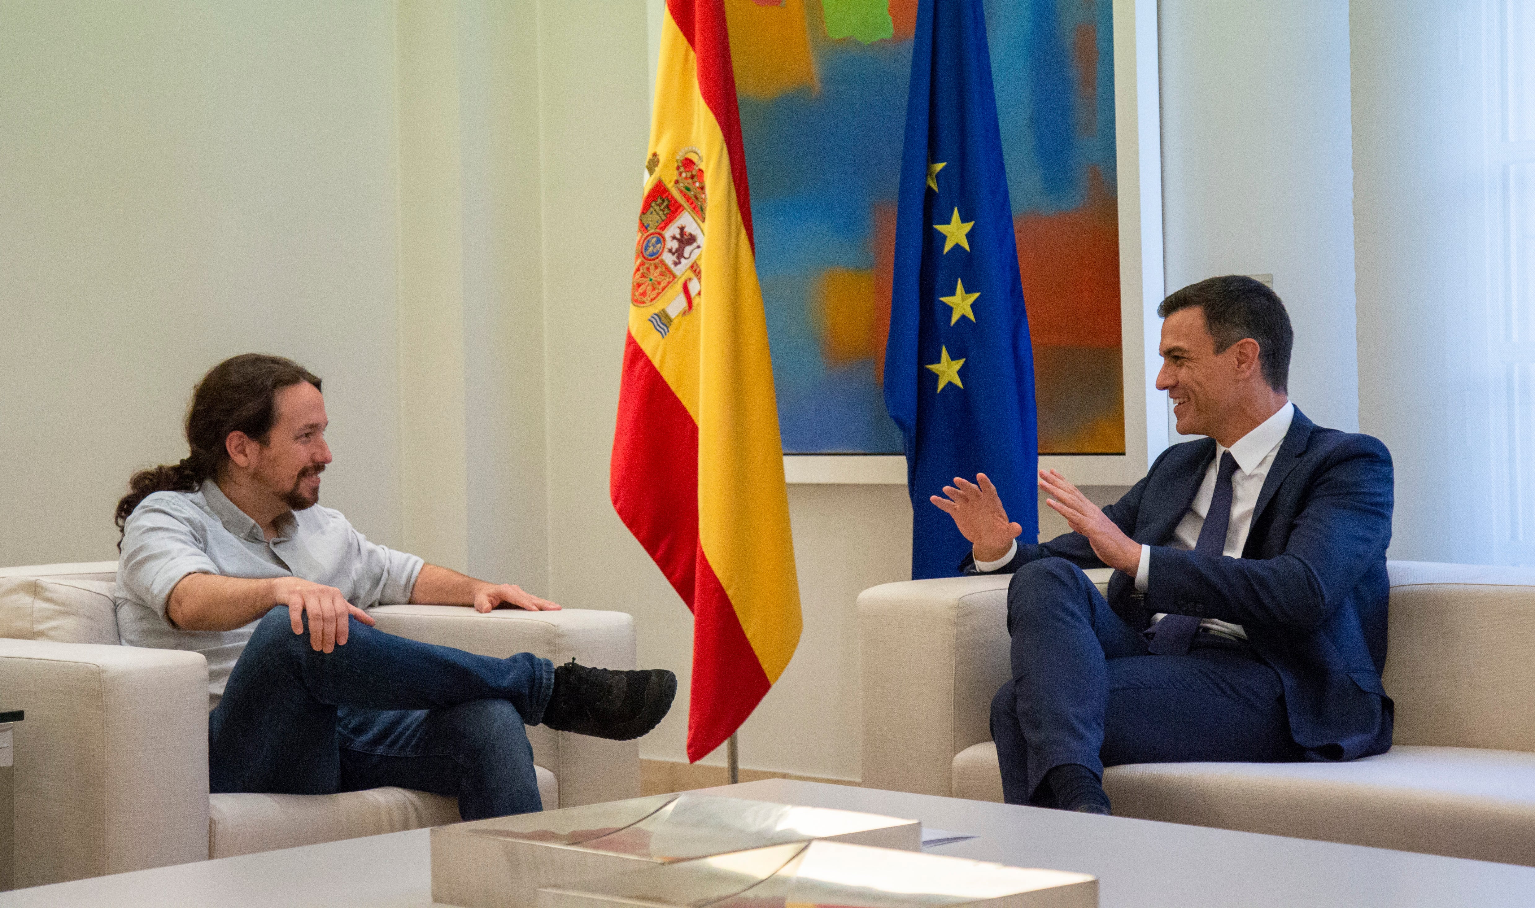
[[[356,619],[330,653],[286,607],[256,625],[209,714],[213,793],[335,794],[398,785],[456,796],[465,820],[542,808],[533,747],[554,665],[476,656]]]

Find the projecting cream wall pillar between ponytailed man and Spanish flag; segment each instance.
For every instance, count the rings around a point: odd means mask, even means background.
[[[548,593],[536,8],[394,6],[405,547]]]

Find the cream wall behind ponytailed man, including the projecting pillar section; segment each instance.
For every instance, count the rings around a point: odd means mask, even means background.
[[[546,592],[536,86],[531,3],[0,5],[0,564],[114,558],[267,350],[325,378],[325,504]]]

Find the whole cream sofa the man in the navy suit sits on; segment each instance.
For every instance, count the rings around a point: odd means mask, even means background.
[[[1535,570],[1394,561],[1391,751],[1351,764],[1142,764],[1119,816],[1535,865]],[[1099,587],[1108,572],[1088,572]],[[858,596],[863,784],[1001,800],[992,696],[1008,576]]]

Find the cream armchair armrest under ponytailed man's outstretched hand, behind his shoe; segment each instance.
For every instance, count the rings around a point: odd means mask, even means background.
[[[635,667],[634,618],[623,611],[497,608],[482,615],[468,605],[378,605],[368,615],[379,630],[482,656],[533,653],[556,665],[574,658],[602,668]],[[640,794],[639,741],[603,741],[542,725],[528,728],[528,741],[533,761],[559,780],[559,807]]]

